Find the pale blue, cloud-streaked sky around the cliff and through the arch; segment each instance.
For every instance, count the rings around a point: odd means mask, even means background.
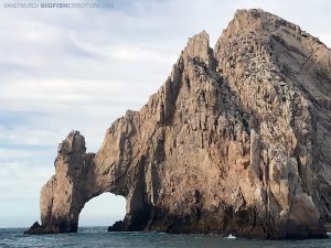
[[[329,0],[106,1],[113,8],[13,9],[3,4],[41,0],[0,0],[0,228],[40,219],[40,190],[71,130],[96,152],[111,122],[167,79],[188,37],[205,30],[213,47],[237,9],[273,12],[331,47]],[[125,204],[104,193],[79,226],[110,225]]]

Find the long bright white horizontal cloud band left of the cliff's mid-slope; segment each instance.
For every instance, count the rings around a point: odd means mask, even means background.
[[[3,103],[0,109],[55,112],[75,105],[79,108],[94,105],[97,108],[102,105],[116,105],[124,100],[122,96],[126,94],[136,104],[140,101],[139,96],[135,96],[138,88],[141,87],[135,82],[19,79],[0,85],[0,103]]]

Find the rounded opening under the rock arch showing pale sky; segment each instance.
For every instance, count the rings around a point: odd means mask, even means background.
[[[105,192],[93,197],[81,211],[78,227],[108,227],[126,215],[126,198]]]

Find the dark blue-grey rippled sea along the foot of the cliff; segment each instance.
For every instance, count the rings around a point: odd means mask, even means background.
[[[106,227],[83,227],[77,234],[29,236],[23,228],[0,228],[0,247],[114,248],[331,248],[331,239],[290,241],[247,240],[215,235],[108,233]]]

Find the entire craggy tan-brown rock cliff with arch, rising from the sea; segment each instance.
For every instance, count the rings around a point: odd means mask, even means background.
[[[109,230],[325,237],[331,51],[261,10],[237,11],[214,50],[204,31],[194,35],[97,153],[77,131],[60,144],[30,233],[76,231],[84,204],[104,192],[127,200]]]

